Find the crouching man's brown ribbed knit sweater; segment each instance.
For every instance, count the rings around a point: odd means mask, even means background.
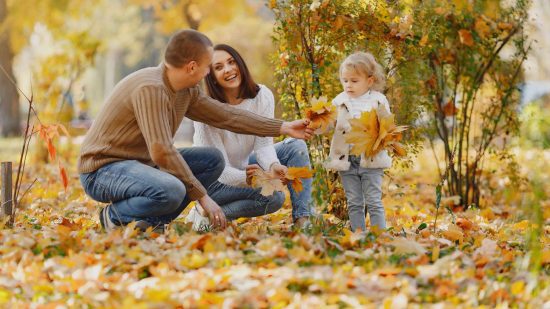
[[[242,134],[280,135],[281,120],[233,108],[205,95],[199,86],[175,92],[166,67],[145,68],[120,81],[82,144],[79,173],[121,160],[157,166],[180,179],[191,200],[206,194],[173,145],[183,117]]]

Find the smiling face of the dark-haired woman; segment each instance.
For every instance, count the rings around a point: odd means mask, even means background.
[[[214,51],[212,59],[212,71],[216,78],[216,82],[224,90],[236,89],[241,85],[241,72],[237,62],[226,51]]]

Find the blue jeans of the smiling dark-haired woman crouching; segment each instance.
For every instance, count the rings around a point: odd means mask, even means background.
[[[281,164],[288,167],[310,167],[307,145],[303,140],[287,138],[274,145]],[[256,164],[256,155],[252,154],[249,164]],[[311,215],[312,178],[302,179],[303,190],[296,193],[289,184],[294,220]],[[208,195],[220,205],[229,220],[241,217],[256,217],[279,210],[285,197],[282,192],[263,196],[260,189],[230,186],[218,181],[208,188]]]

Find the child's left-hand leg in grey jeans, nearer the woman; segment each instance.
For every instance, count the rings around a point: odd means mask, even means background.
[[[348,215],[351,222],[351,230],[361,229],[365,231],[365,200],[361,185],[361,175],[359,173],[359,162],[361,158],[350,156],[351,165],[349,170],[340,172],[342,185],[346,192],[348,204]]]

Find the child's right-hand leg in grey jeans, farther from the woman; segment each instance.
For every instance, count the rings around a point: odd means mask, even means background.
[[[384,170],[381,168],[362,168],[361,181],[365,206],[370,216],[371,227],[379,230],[386,229],[386,213],[382,205],[382,177]]]

